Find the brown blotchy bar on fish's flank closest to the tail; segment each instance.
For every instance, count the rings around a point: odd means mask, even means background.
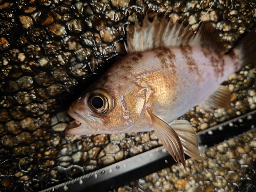
[[[211,52],[205,48],[201,48],[201,51],[203,55],[210,60],[211,66],[214,67],[215,77],[217,79],[223,77],[225,67],[223,55],[218,54],[217,58],[217,53]]]

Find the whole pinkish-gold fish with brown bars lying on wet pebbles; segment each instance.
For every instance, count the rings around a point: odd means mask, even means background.
[[[167,152],[186,169],[185,155],[201,161],[193,126],[178,119],[196,105],[214,112],[230,108],[221,83],[256,60],[256,28],[226,53],[219,32],[202,22],[138,19],[127,31],[127,55],[94,82],[68,110],[70,135],[155,131]]]

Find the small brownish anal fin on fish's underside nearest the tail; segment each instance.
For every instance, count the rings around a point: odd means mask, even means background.
[[[230,98],[231,93],[229,89],[225,86],[218,86],[199,106],[211,112],[218,108],[227,110],[230,108]]]

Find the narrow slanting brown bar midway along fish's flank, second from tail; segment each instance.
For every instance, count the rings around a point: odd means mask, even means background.
[[[180,51],[188,66],[189,72],[194,74],[196,81],[199,83],[201,81],[202,75],[200,74],[198,65],[193,57],[192,48],[190,46],[180,46]]]

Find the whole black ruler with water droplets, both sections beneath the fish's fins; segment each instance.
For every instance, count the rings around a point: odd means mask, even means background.
[[[256,130],[256,110],[200,131],[197,133],[200,153],[254,129]],[[160,146],[39,192],[109,191],[175,163],[165,148]]]

